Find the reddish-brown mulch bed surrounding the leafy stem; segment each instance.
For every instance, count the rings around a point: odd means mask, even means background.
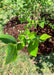
[[[4,34],[8,33],[9,35],[14,36],[17,40],[19,30],[25,30],[24,26],[26,26],[26,23],[21,24],[17,16],[13,17],[4,27]],[[41,28],[39,26],[37,28],[30,28],[30,32],[37,32],[37,35],[47,33],[52,36],[50,40],[48,39],[44,43],[39,44],[38,54],[48,54],[54,51],[54,30],[51,29],[48,25],[45,25],[44,28]],[[24,47],[22,51],[28,52],[26,47]]]

